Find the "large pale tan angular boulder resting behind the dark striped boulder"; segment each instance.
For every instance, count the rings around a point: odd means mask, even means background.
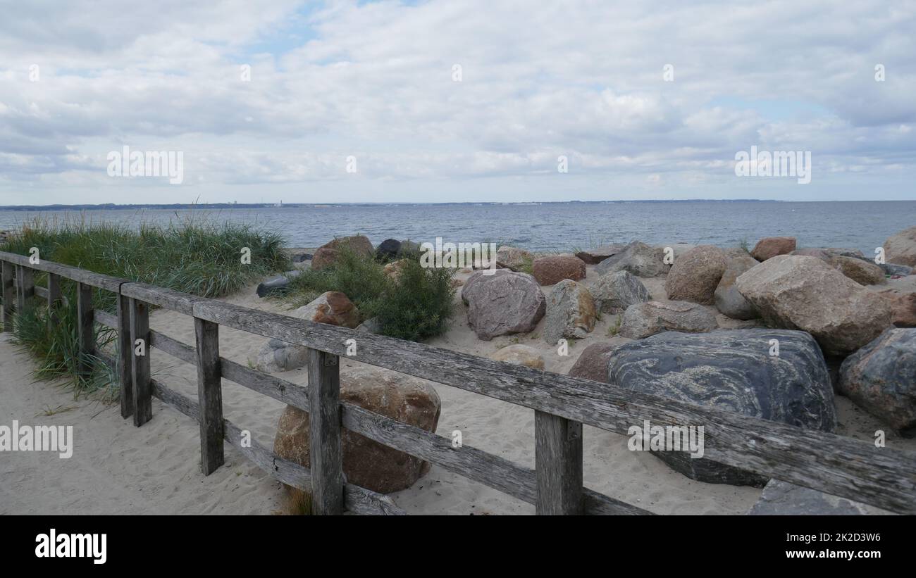
[[[890,326],[883,298],[814,257],[773,257],[735,286],[770,326],[807,331],[827,355],[848,355]]]

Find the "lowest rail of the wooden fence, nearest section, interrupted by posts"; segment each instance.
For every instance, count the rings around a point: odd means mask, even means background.
[[[198,420],[199,409],[196,401],[157,380],[150,381],[153,394],[164,403],[169,404],[181,413]],[[288,486],[311,491],[311,472],[308,468],[295,462],[283,459],[261,445],[251,436],[243,435],[243,430],[228,420],[223,421],[224,440],[245,455],[256,466]],[[243,440],[250,440],[244,443]],[[403,516],[406,512],[398,508],[387,496],[378,494],[365,487],[347,484],[344,487],[344,507],[356,514]]]

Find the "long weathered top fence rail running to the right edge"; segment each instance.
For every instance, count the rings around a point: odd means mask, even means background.
[[[627,391],[591,380],[482,359],[420,343],[203,300],[194,315],[415,377],[587,423],[618,434],[631,425],[703,425],[705,456],[878,508],[916,513],[916,457],[835,434]]]

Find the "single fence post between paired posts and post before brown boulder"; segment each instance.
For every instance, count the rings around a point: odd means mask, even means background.
[[[223,466],[223,385],[220,371],[220,326],[194,317],[197,342],[197,399],[201,421],[201,467],[204,476]]]

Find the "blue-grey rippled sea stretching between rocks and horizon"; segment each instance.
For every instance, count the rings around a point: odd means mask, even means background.
[[[265,209],[0,210],[0,230],[41,219],[168,224],[192,217],[235,221],[280,232],[292,247],[317,247],[362,233],[377,244],[413,241],[498,242],[535,251],[610,242],[686,242],[752,247],[761,237],[791,236],[799,247],[844,247],[874,254],[892,234],[916,225],[914,201],[608,201],[537,204],[328,205]]]

